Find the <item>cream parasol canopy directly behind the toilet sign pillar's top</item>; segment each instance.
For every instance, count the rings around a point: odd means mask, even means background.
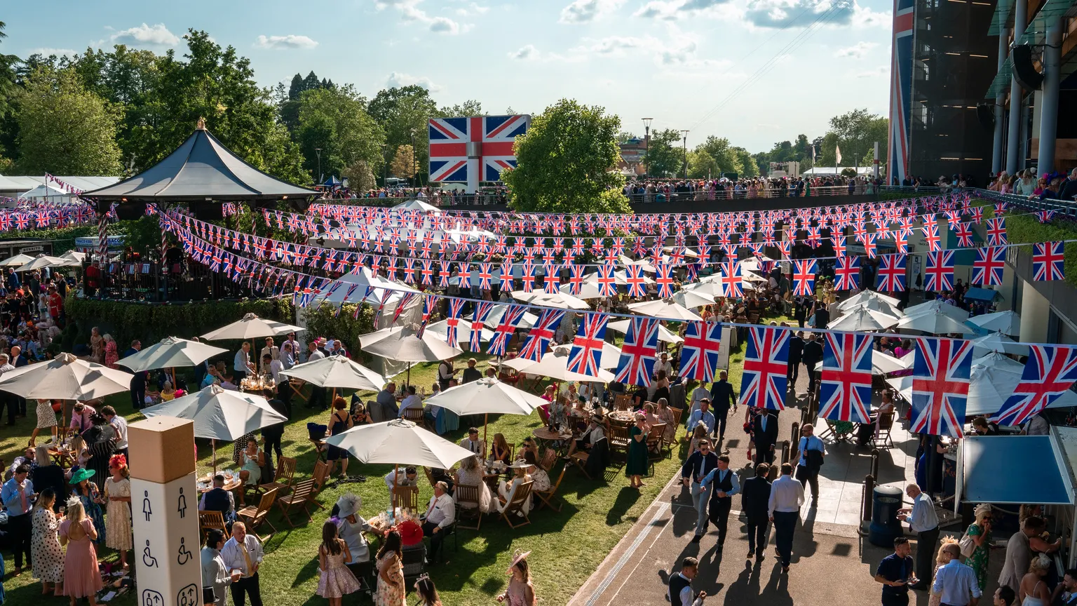
[[[220,385],[142,409],[142,414],[193,421],[195,438],[228,441],[288,421],[262,396],[230,391]]]

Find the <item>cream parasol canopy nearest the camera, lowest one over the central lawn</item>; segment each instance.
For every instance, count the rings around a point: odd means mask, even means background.
[[[361,463],[442,469],[475,454],[402,418],[352,427],[330,436],[325,443],[348,451]]]

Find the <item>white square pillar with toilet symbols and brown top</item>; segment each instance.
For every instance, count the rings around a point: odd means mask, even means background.
[[[170,416],[128,428],[138,606],[201,606],[194,440]]]

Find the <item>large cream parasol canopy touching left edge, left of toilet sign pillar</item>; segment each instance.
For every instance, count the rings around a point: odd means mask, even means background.
[[[92,400],[130,389],[134,374],[60,354],[52,360],[8,371],[0,391],[40,400]]]

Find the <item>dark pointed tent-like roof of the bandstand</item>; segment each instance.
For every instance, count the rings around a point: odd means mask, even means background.
[[[266,175],[232,153],[199,121],[168,157],[113,185],[83,195],[104,202],[239,201],[306,197],[318,192]]]

